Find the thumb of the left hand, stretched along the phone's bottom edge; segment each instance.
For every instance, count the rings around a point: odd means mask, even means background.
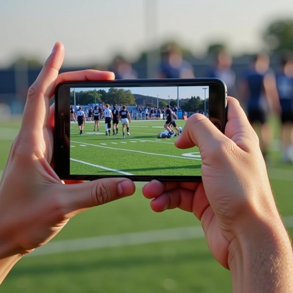
[[[67,212],[103,205],[121,197],[132,195],[135,185],[126,178],[103,178],[86,183],[59,185],[62,202]]]

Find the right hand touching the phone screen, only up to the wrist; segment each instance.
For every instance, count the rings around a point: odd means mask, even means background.
[[[258,137],[239,102],[229,97],[225,135],[201,114],[188,118],[176,147],[198,146],[202,183],[161,183],[143,188],[154,198],[155,212],[179,207],[200,219],[209,249],[225,268],[236,251],[256,241],[270,227],[285,231],[275,206]],[[284,235],[284,234],[283,234]]]

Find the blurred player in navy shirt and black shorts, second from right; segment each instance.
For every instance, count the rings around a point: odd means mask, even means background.
[[[256,55],[251,68],[245,71],[241,84],[242,98],[247,102],[248,119],[258,133],[264,157],[272,140],[272,130],[267,123],[268,111],[280,111],[275,75],[269,64],[268,55]]]

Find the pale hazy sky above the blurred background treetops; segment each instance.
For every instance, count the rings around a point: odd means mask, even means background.
[[[106,63],[117,53],[134,61],[170,39],[197,55],[213,42],[233,54],[254,52],[280,17],[293,17],[292,0],[1,1],[0,67],[21,55],[44,62],[56,41],[65,45],[64,64],[73,66]]]

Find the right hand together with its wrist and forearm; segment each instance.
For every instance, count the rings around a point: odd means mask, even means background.
[[[201,114],[188,120],[176,147],[198,146],[202,182],[143,188],[155,212],[180,208],[200,220],[214,258],[231,270],[233,292],[293,292],[293,256],[277,211],[258,137],[229,97],[225,134]]]

